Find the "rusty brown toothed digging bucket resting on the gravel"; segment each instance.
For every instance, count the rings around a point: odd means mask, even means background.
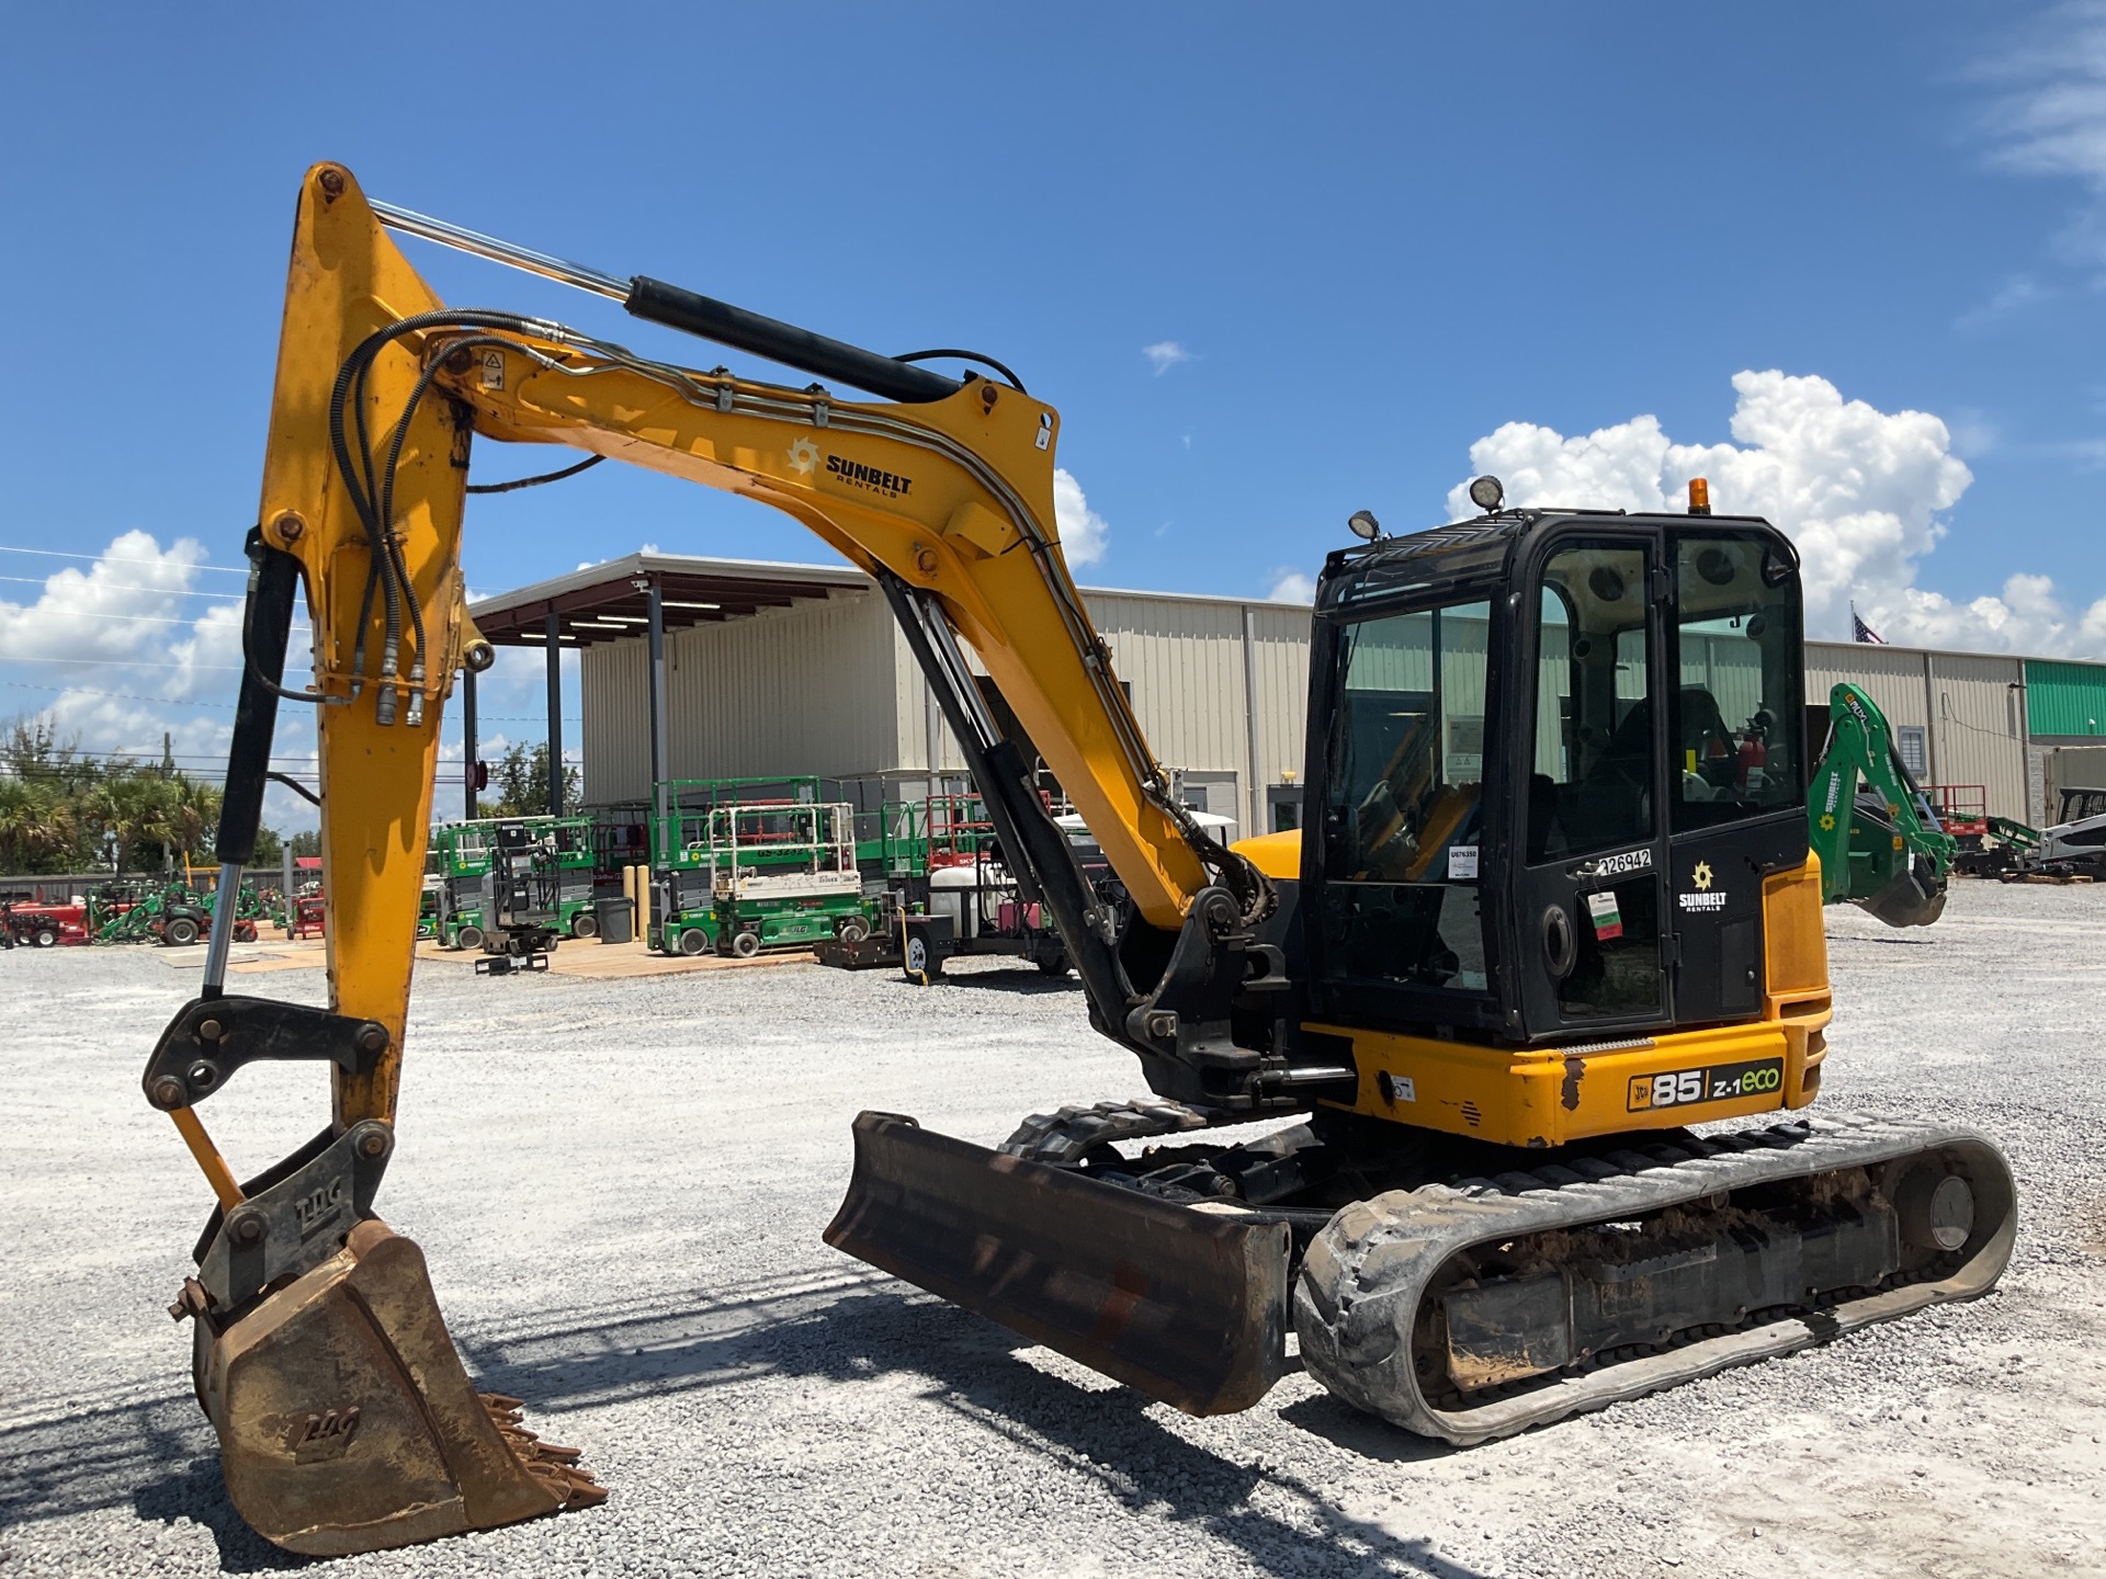
[[[291,1552],[345,1556],[604,1501],[577,1453],[478,1394],[423,1253],[379,1221],[198,1341],[227,1497]]]

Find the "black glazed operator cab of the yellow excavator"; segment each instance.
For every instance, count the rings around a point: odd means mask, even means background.
[[[1754,1015],[1807,857],[1792,545],[1761,520],[1506,512],[1331,556],[1310,1008],[1535,1042]],[[1737,722],[1729,722],[1737,720]]]

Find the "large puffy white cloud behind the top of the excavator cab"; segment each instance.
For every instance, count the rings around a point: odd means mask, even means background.
[[[2074,615],[2047,577],[2013,575],[2001,596],[1952,602],[1916,585],[1942,520],[1973,482],[1952,434],[1923,411],[1883,413],[1820,377],[1737,373],[1735,444],[1676,444],[1655,417],[1565,438],[1508,423],[1470,446],[1510,505],[1685,509],[1689,478],[1712,507],[1765,516],[1799,545],[1807,634],[1847,638],[1849,604],[1889,642],[2020,653],[2106,648],[2106,600]],[[1449,514],[1474,516],[1468,480]]]

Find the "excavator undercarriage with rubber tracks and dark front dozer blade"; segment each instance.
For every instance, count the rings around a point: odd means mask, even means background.
[[[1101,1103],[984,1152],[866,1114],[828,1242],[1190,1413],[1255,1402],[1291,1328],[1331,1392],[1474,1444],[1969,1299],[2015,1236],[2003,1156],[1938,1124],[1525,1156],[1350,1114],[1184,1139],[1207,1124]]]

